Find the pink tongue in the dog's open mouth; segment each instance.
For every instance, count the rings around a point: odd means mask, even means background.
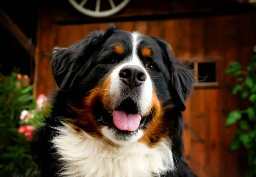
[[[125,111],[113,111],[113,121],[119,130],[135,131],[140,126],[140,114],[126,114]]]

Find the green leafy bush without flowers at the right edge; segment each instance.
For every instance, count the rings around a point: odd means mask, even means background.
[[[253,177],[256,175],[256,54],[253,55],[246,71],[241,70],[238,62],[232,62],[226,72],[237,77],[238,84],[233,88],[233,94],[240,92],[241,97],[251,103],[245,110],[231,111],[226,125],[239,122],[231,149],[239,149],[241,145],[248,149],[249,168],[246,177]]]

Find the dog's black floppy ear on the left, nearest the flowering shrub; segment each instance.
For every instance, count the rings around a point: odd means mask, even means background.
[[[68,48],[53,49],[52,74],[61,90],[70,89],[76,84],[89,68],[90,57],[116,30],[118,29],[111,25],[106,31],[93,31],[84,40]]]

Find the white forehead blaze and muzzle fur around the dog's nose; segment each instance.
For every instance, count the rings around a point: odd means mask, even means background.
[[[143,85],[140,86],[141,90],[137,96],[137,104],[140,109],[140,114],[142,116],[145,116],[148,112],[148,109],[152,101],[152,83],[151,83],[150,76],[147,70],[145,69],[144,64],[140,61],[140,58],[137,54],[137,48],[140,43],[140,34],[137,32],[133,32],[131,33],[131,38],[132,38],[132,45],[133,45],[132,54],[127,58],[125,58],[126,63],[121,64],[116,69],[114,69],[113,72],[111,73],[110,94],[111,94],[112,105],[110,105],[110,108],[115,109],[123,100],[123,98],[127,96],[122,93],[122,88],[124,87],[124,84],[119,78],[119,71],[125,66],[136,65],[136,66],[140,66],[145,71],[145,74],[147,75],[147,80],[145,80]]]

